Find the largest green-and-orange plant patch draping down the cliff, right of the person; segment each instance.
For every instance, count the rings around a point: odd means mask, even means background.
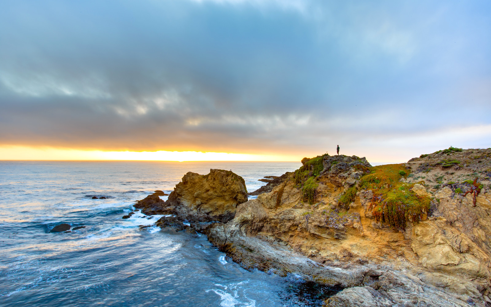
[[[370,171],[361,178],[360,188],[373,191],[371,209],[377,222],[405,229],[406,221],[418,222],[428,212],[431,199],[412,192],[414,184],[399,181],[409,172],[404,164],[370,167]]]

